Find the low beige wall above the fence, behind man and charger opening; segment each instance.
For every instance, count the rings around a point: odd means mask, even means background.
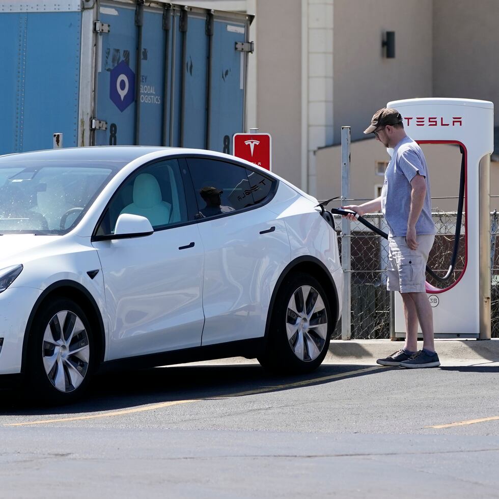
[[[457,199],[435,199],[459,195],[461,153],[458,147],[423,144],[430,174],[432,210],[456,211]],[[362,200],[374,199],[377,188],[383,185],[383,176],[376,175],[376,162],[389,161],[386,149],[374,138],[352,142],[350,145],[350,197],[356,200],[348,204],[362,204]],[[341,146],[319,149],[316,153],[318,175],[321,181],[317,188],[318,199],[329,199],[341,195]],[[499,163],[490,166],[490,192],[499,195]],[[340,206],[340,202],[330,207]],[[491,210],[499,210],[499,198],[490,200]]]

